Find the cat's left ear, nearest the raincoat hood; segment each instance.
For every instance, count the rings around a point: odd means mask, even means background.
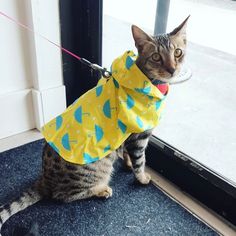
[[[138,26],[132,25],[132,34],[135,41],[135,46],[138,49],[138,52],[141,53],[145,44],[153,42],[151,36],[146,34]]]

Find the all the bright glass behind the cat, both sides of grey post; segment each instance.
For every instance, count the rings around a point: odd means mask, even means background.
[[[104,0],[105,66],[136,51],[131,24],[153,33],[155,13],[154,0]],[[193,76],[171,85],[154,134],[236,183],[236,1],[171,0],[167,31],[189,14],[185,64]]]

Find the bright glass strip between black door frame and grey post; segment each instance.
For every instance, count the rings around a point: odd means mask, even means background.
[[[136,51],[131,33],[135,24],[153,33],[156,0],[103,1],[103,65],[110,68],[112,61],[127,50]]]

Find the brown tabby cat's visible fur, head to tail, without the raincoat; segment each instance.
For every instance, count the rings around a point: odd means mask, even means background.
[[[169,83],[179,73],[185,57],[188,18],[172,32],[157,36],[150,36],[132,25],[132,35],[138,50],[135,63],[153,84]],[[131,134],[116,152],[87,165],[65,161],[45,143],[41,176],[19,198],[0,207],[0,229],[12,215],[43,198],[72,202],[92,196],[111,197],[109,181],[118,152],[123,156],[124,165],[133,170],[138,182],[148,184],[151,177],[145,172],[145,149],[152,131]]]

